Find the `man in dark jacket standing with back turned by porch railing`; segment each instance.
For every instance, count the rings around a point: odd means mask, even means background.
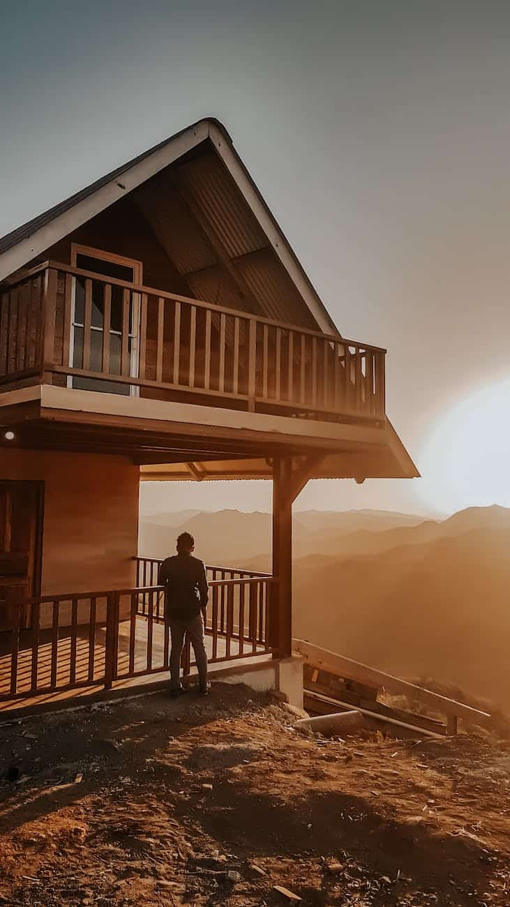
[[[181,532],[177,539],[177,554],[162,562],[158,584],[165,588],[165,618],[170,626],[170,694],[181,696],[181,655],[184,638],[191,641],[199,672],[201,696],[207,696],[211,684],[207,679],[207,654],[203,633],[209,590],[203,561],[192,556],[195,540],[190,532]],[[202,619],[203,616],[203,619]]]

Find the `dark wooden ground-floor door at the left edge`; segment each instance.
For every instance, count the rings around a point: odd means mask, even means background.
[[[0,482],[0,629],[10,626],[9,600],[40,592],[42,495],[39,482]]]

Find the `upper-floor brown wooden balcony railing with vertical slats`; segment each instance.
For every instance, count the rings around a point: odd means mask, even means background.
[[[28,379],[380,420],[386,351],[45,262],[2,292],[0,385]]]

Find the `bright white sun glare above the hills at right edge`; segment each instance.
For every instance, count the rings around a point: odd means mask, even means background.
[[[441,416],[417,458],[420,493],[441,512],[510,507],[510,380],[485,387]]]

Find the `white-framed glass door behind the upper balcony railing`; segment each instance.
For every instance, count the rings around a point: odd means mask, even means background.
[[[92,249],[88,246],[78,246],[73,243],[71,247],[71,264],[74,268],[82,268],[101,274],[105,278],[125,280],[131,284],[142,283],[142,262],[133,258],[123,258],[102,249]],[[121,374],[121,352],[123,346],[123,288],[116,284],[111,287],[110,315],[108,324],[104,319],[104,301],[106,284],[102,280],[93,280],[92,305],[90,308],[90,349],[88,353],[88,371],[103,371],[103,345],[105,337],[108,339],[108,374]],[[85,280],[81,277],[74,278],[70,363],[73,368],[83,367],[83,339],[85,319]],[[130,293],[128,317],[128,349],[130,359],[130,375],[138,377],[139,356],[139,323],[140,323],[140,297],[137,293]],[[81,390],[103,391],[107,394],[138,395],[138,387],[121,383],[120,381],[100,381],[96,378],[71,375],[68,385]]]

